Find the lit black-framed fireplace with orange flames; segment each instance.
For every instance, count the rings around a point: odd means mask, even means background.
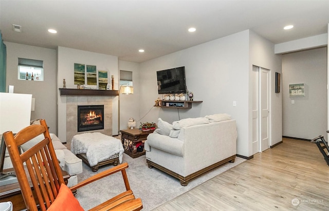
[[[104,105],[78,106],[78,132],[104,129]]]

